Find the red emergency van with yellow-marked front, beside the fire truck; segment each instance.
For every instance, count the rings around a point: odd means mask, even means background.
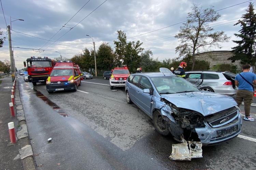
[[[59,61],[46,80],[46,90],[48,93],[61,90],[76,91],[77,86],[81,85],[81,80],[83,76],[77,64]]]

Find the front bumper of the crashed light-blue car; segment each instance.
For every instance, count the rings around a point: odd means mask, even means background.
[[[204,123],[205,127],[203,128],[195,128],[198,137],[202,144],[204,146],[210,146],[210,145],[217,145],[219,143],[226,142],[241,132],[241,126],[242,126],[242,118],[239,113],[237,112],[237,115],[232,118],[231,120],[224,123],[222,126],[213,128],[210,124]],[[235,128],[236,130],[226,133],[226,134],[219,134],[225,131],[229,131],[230,129]]]

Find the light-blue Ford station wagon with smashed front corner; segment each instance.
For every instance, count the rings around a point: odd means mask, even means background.
[[[159,134],[205,146],[226,142],[241,132],[240,110],[233,98],[203,91],[168,70],[131,74],[125,87],[127,103],[150,116]]]

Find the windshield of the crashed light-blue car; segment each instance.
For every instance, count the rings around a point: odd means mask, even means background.
[[[200,91],[193,84],[177,76],[153,77],[151,80],[159,94]]]

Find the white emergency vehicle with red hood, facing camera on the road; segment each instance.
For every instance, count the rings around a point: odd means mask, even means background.
[[[127,66],[115,67],[112,70],[112,74],[109,79],[110,89],[114,89],[114,86],[116,87],[125,86],[125,82],[129,75],[130,75],[130,72]]]

